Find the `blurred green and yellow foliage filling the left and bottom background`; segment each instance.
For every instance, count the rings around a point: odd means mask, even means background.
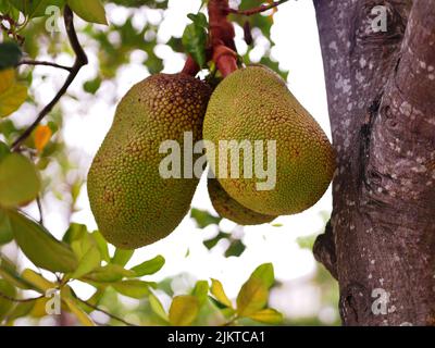
[[[33,64],[16,65],[22,61],[66,62],[69,65],[74,59],[64,29],[58,30],[58,26],[62,27],[62,20],[55,12],[46,14],[44,11],[49,5],[62,8],[65,2],[76,14],[87,20],[76,17],[75,23],[82,46],[96,66],[95,75],[84,80],[80,88],[70,89],[25,140],[20,151],[12,152],[13,141],[49,101],[41,100],[39,91],[45,88],[51,91],[53,86],[46,87],[47,80],[53,74],[61,74],[53,69],[46,70],[47,74],[35,76]],[[261,3],[258,0],[233,1],[240,9],[254,8]],[[92,23],[105,21],[103,12],[102,16],[99,12],[102,4],[107,13],[121,11],[126,14],[125,21],[107,26]],[[309,278],[301,282],[304,285],[302,288],[310,287],[320,294],[319,308],[323,312],[303,318],[283,318],[268,304],[270,296],[283,287],[283,284],[274,281],[272,264],[260,265],[240,288],[237,298],[228,299],[217,279],[198,281],[189,273],[158,283],[151,282],[148,278],[164,266],[163,257],[156,256],[127,269],[133,252],[113,250],[98,231],[88,231],[85,225],[74,223],[72,216],[79,209],[76,203],[86,173],[80,171],[82,163],[77,160],[79,154],[72,154],[73,150],[64,138],[69,102],[77,101],[86,108],[101,98],[99,90],[105,83],[113,83],[122,74],[123,66],[132,64],[135,52],[140,54],[136,54],[139,58],[134,63],[142,65],[149,74],[156,74],[165,67],[166,57],[183,54],[186,46],[183,45],[186,44],[186,38],[182,38],[183,33],[165,41],[159,38],[167,0],[112,0],[103,1],[102,4],[97,0],[0,0],[0,323],[338,324],[337,285],[320,264]],[[271,57],[274,46],[271,38],[274,12],[271,10],[264,15],[250,17],[232,15],[232,20],[238,32],[245,28],[246,33],[249,28],[248,36],[252,36],[252,44],[247,45],[240,58],[244,63],[250,63],[252,50],[261,44],[263,52],[260,62],[286,78],[288,72],[279,70],[278,62]],[[142,15],[140,22],[137,21],[138,13]],[[48,28],[57,29],[53,32]],[[162,51],[164,54],[159,53]],[[104,95],[104,98],[114,103],[117,96]],[[67,206],[66,220],[70,227],[61,241],[44,227],[45,211],[35,208],[46,207],[49,210],[49,201],[53,198]],[[207,210],[192,209],[191,219],[198,228],[213,226],[215,229],[213,237],[203,240],[207,249],[211,250],[225,241],[225,258],[239,257],[245,252],[246,246],[239,237],[243,236],[241,226],[235,227],[236,233],[224,231],[220,224],[222,219]],[[323,219],[326,222],[327,215]],[[300,239],[300,247],[311,249],[314,238],[310,236]],[[23,253],[34,266],[22,262]],[[188,284],[184,294],[174,291],[181,279]],[[92,287],[94,295],[79,298],[74,291],[77,284]],[[61,315],[47,315],[46,308],[51,306],[50,300],[54,297],[45,295],[51,288],[60,291]]]

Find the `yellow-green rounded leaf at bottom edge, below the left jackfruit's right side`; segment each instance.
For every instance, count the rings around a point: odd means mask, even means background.
[[[188,326],[198,315],[199,301],[190,295],[176,296],[170,308],[170,323],[173,326]]]

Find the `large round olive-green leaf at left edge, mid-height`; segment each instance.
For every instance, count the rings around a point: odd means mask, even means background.
[[[27,158],[10,153],[0,162],[0,204],[16,207],[34,200],[40,190],[39,173]]]

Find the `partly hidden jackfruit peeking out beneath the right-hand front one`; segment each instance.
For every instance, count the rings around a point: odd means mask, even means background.
[[[231,198],[215,178],[208,178],[208,189],[214,210],[221,217],[228,219],[243,226],[261,225],[272,222],[277,216],[257,213]]]

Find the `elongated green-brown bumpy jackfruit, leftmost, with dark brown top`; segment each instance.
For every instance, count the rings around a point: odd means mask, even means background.
[[[181,145],[185,132],[202,138],[211,89],[194,77],[158,74],[135,85],[116,109],[88,174],[88,196],[99,229],[123,249],[152,244],[187,214],[197,178],[162,178],[162,141]],[[183,159],[182,159],[183,163]]]

